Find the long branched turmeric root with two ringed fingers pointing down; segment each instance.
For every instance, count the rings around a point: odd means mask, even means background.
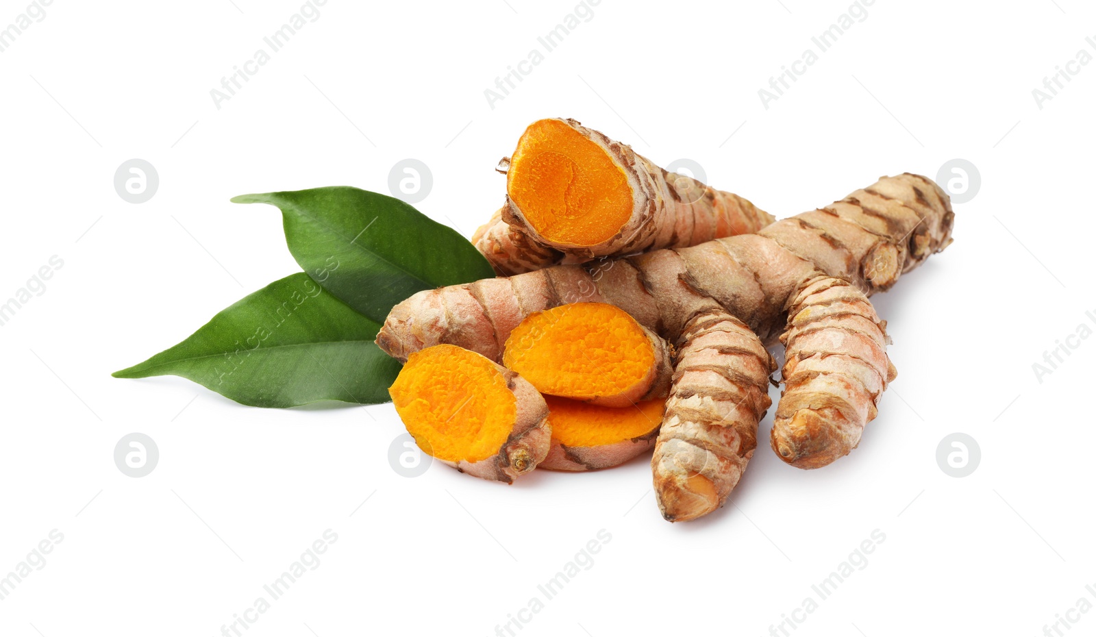
[[[392,308],[377,344],[401,360],[443,342],[488,355],[523,317],[581,298],[615,305],[678,343],[681,367],[693,340],[706,333],[699,317],[721,308],[761,342],[787,332],[788,376],[773,447],[785,462],[814,468],[856,446],[894,377],[881,351],[884,326],[868,311],[867,296],[889,289],[903,273],[944,250],[951,242],[954,221],[947,194],[931,180],[910,173],[884,177],[756,235],[420,292]],[[824,311],[838,304],[846,304],[847,311]],[[743,345],[726,351],[745,354],[751,349]],[[697,353],[698,360],[710,355]],[[728,357],[711,365],[738,387],[722,393],[688,380],[697,369],[692,365],[675,372],[678,378],[664,422],[677,413],[682,424],[663,428],[663,444],[652,460],[667,520],[694,519],[721,505],[751,457],[755,432],[749,436],[744,430],[756,422],[750,422],[741,406],[735,407],[741,420],[722,414],[730,412],[727,403],[733,396],[750,400],[757,369],[749,365],[754,361],[761,362],[761,356]],[[675,410],[674,405],[693,396],[700,398],[687,411]],[[743,406],[756,411],[763,402]],[[722,431],[727,428],[735,431]],[[712,444],[721,436],[724,444]],[[669,479],[672,473],[678,478]]]

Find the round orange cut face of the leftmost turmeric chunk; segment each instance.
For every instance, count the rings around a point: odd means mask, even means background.
[[[419,448],[450,463],[496,455],[517,419],[498,365],[455,345],[411,354],[388,391]]]

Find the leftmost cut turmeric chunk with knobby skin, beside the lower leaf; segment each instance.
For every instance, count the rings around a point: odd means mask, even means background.
[[[540,393],[469,350],[415,352],[388,391],[419,448],[460,471],[510,484],[548,455]]]

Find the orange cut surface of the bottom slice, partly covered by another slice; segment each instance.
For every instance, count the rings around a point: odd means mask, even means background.
[[[662,422],[665,400],[643,400],[633,407],[598,407],[545,396],[551,437],[569,447],[616,444],[654,431]]]

